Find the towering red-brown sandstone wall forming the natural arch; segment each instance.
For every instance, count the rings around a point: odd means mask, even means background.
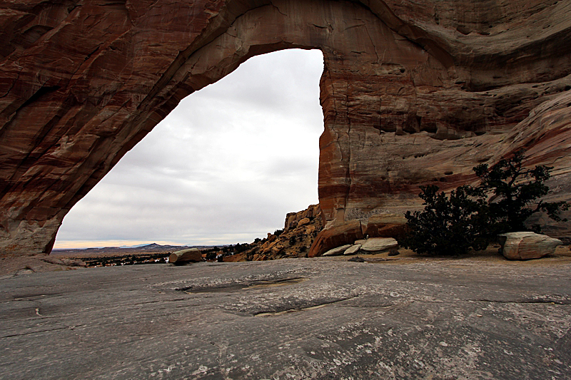
[[[568,1],[21,0],[0,1],[0,25],[4,252],[49,252],[183,97],[283,48],[323,52],[330,224],[408,209],[418,185],[469,183],[521,147],[570,171]]]

